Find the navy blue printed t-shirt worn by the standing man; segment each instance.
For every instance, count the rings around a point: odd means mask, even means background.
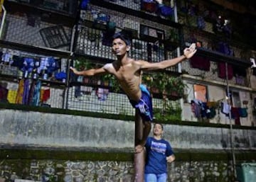
[[[146,165],[145,174],[167,173],[166,157],[174,154],[171,144],[164,139],[156,140],[148,137],[146,140]]]

